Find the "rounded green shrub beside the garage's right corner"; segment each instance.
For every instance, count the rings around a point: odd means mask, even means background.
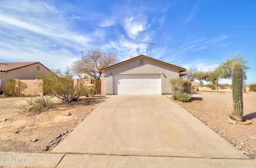
[[[182,78],[170,79],[170,85],[172,90],[172,98],[181,102],[188,102],[190,100],[190,94],[194,92],[194,88],[191,86],[190,80]]]

